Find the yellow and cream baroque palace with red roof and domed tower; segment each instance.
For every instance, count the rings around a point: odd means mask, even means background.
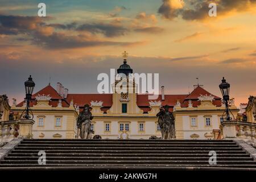
[[[127,75],[133,73],[133,69],[125,59],[117,72]],[[220,97],[200,85],[195,86],[190,94],[164,94],[162,86],[158,98],[148,100],[148,94],[138,93],[69,93],[58,82],[56,89],[49,84],[32,95],[30,107],[35,120],[32,137],[77,138],[76,121],[85,104],[90,105],[94,116],[94,135],[103,139],[118,139],[123,134],[130,139],[148,139],[152,135],[161,137],[156,114],[164,105],[170,106],[174,114],[177,139],[213,139],[213,130],[220,129],[225,109]],[[11,110],[19,115],[25,106],[25,102],[16,104],[14,100]],[[237,115],[238,109],[233,102],[230,110]]]

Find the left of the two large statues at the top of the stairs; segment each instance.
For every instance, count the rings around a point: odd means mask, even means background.
[[[92,123],[93,119],[92,113],[90,112],[90,106],[88,104],[84,105],[84,110],[79,114],[77,118],[77,128],[80,129],[81,139],[92,139]]]

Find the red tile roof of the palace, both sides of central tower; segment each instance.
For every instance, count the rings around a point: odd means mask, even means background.
[[[106,112],[112,104],[113,104],[113,94],[68,94],[68,97],[66,99],[62,98],[54,88],[52,88],[51,85],[46,86],[39,92],[36,92],[32,95],[32,101],[30,103],[30,106],[36,105],[37,101],[35,100],[35,96],[38,94],[40,95],[48,95],[51,96],[51,101],[49,101],[49,105],[52,105],[53,107],[56,107],[58,105],[59,100],[62,100],[63,107],[69,107],[69,104],[71,100],[73,100],[74,104],[77,104],[79,107],[84,106],[85,104],[89,104],[91,101],[103,101],[103,107],[101,108],[102,111]],[[200,101],[198,100],[198,97],[202,95],[210,95],[207,90],[201,88],[200,86],[197,86],[191,92],[191,94],[176,94],[176,95],[170,95],[166,94],[164,96],[164,100],[162,101],[161,95],[158,96],[158,98],[154,101],[161,101],[162,106],[169,105],[170,111],[173,110],[173,107],[176,105],[177,100],[180,101],[181,107],[188,107],[188,101],[192,100],[193,107],[197,107],[200,105]],[[151,100],[148,100],[148,94],[138,94],[137,95],[137,105],[144,111],[148,112],[150,111],[150,102]],[[17,107],[20,107],[23,105],[23,102],[17,105]],[[213,105],[221,106],[221,98],[214,96]]]

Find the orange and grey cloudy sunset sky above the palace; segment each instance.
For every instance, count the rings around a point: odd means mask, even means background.
[[[239,106],[256,96],[256,0],[0,0],[0,94],[9,100],[23,99],[29,75],[35,92],[51,77],[53,87],[96,93],[97,75],[117,69],[123,51],[135,73],[159,73],[168,94],[192,92],[198,77],[221,96],[225,76]]]

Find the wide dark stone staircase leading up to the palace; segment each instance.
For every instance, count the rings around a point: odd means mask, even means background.
[[[38,164],[41,150],[46,165]],[[209,151],[216,151],[216,165]],[[256,161],[233,140],[23,139],[0,160],[4,169],[256,170]]]

